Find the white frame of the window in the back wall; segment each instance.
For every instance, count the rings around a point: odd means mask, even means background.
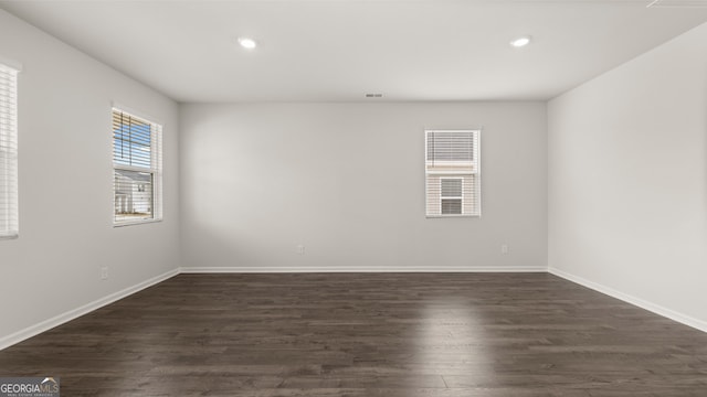
[[[471,132],[476,143],[476,148],[473,148],[473,154],[475,155],[475,160],[472,160],[472,163],[475,164],[474,170],[471,172],[467,171],[430,171],[428,169],[429,161],[428,160],[428,143],[429,143],[429,135],[430,132]],[[425,129],[424,130],[424,213],[426,218],[451,218],[451,217],[469,217],[469,218],[481,218],[482,217],[482,128],[473,128],[473,129]],[[442,160],[445,161],[445,160]],[[454,161],[449,160],[449,165],[461,165],[465,163],[464,161]],[[430,213],[430,175],[439,175],[440,181],[440,214],[431,214]],[[472,176],[472,178],[466,178]],[[462,213],[461,214],[442,214],[442,179],[462,179]],[[474,213],[464,213],[464,186],[467,183],[473,183],[472,191],[474,192]],[[446,198],[458,198],[458,197],[446,197]]]

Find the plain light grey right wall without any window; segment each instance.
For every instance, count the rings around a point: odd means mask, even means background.
[[[551,271],[707,331],[707,24],[548,109]]]

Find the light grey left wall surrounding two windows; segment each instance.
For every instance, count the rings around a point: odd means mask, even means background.
[[[20,238],[0,240],[1,348],[28,335],[17,332],[179,267],[179,109],[2,10],[0,57],[23,65]],[[114,100],[165,124],[162,223],[113,228]]]

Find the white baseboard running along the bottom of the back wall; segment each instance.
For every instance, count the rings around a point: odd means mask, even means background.
[[[182,273],[278,273],[278,272],[546,272],[546,267],[182,267]]]

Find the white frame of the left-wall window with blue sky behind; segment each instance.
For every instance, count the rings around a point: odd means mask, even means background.
[[[150,126],[150,168],[138,165],[117,164],[115,162],[115,130],[114,115],[120,112],[131,118],[138,119]],[[163,125],[155,118],[145,116],[139,111],[135,111],[129,107],[114,104],[110,109],[110,162],[113,170],[113,227],[124,227],[131,225],[150,224],[163,221],[163,202],[162,202],[162,139]],[[149,185],[151,186],[150,217],[136,217],[129,219],[116,219],[116,170],[128,172],[140,172],[150,175]],[[143,182],[140,182],[143,183]],[[147,189],[145,189],[147,191]]]

